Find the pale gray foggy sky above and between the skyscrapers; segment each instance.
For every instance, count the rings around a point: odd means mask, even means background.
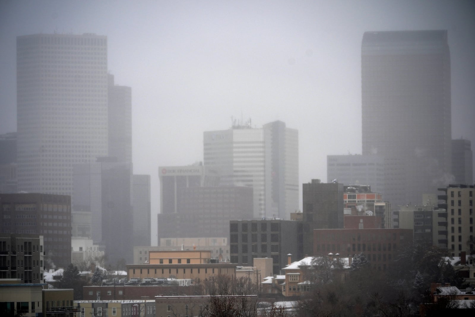
[[[132,87],[154,236],[158,166],[201,161],[203,131],[231,116],[298,129],[300,183],[326,182],[326,155],[361,154],[363,32],[420,29],[448,30],[452,137],[474,144],[475,1],[3,0],[0,134],[16,131],[16,36],[106,35],[115,82]]]

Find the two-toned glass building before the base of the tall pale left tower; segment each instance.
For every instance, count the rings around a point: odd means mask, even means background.
[[[74,166],[73,210],[91,212],[94,244],[103,245],[108,262],[132,261],[133,177],[131,163]],[[144,230],[147,230],[144,228]]]

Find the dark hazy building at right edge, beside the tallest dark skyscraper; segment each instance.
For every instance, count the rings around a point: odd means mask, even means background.
[[[473,153],[470,140],[452,140],[452,174],[455,184],[471,185],[473,181]]]

